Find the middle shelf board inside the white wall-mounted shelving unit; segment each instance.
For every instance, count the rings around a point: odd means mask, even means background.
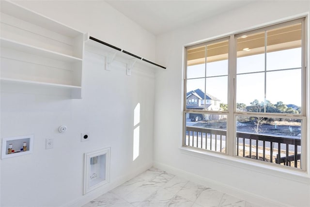
[[[20,52],[26,52],[26,53],[30,53],[33,55],[50,58],[54,60],[59,60],[59,61],[67,62],[67,63],[76,63],[76,62],[82,61],[82,59],[80,58],[65,55],[59,52],[54,52],[54,51],[47,50],[44,48],[38,48],[38,47],[31,46],[31,45],[19,43],[14,40],[9,40],[5,38],[0,38],[0,40],[1,40],[0,42],[1,48],[10,48],[10,49],[14,49]]]

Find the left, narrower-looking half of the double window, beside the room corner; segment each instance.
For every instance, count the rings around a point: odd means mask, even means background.
[[[228,113],[222,113],[217,103],[228,103],[228,46],[229,38],[223,38],[186,48],[186,96],[202,99],[200,107],[185,106],[185,117],[202,117],[186,119],[186,146],[226,152]],[[222,111],[227,111],[227,107]]]

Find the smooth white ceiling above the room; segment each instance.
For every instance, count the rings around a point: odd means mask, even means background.
[[[154,35],[234,10],[250,0],[106,0]]]

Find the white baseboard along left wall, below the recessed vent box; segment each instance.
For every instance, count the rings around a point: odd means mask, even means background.
[[[100,195],[102,195],[108,191],[111,191],[112,189],[116,188],[117,186],[123,184],[127,180],[130,180],[131,178],[139,175],[140,173],[143,173],[144,171],[146,171],[147,169],[150,169],[151,167],[152,167],[152,163],[144,165],[144,166],[139,167],[139,168],[136,168],[135,170],[128,172],[126,175],[118,177],[113,182],[107,183],[106,185],[104,185],[98,189],[95,189],[95,190],[87,193],[86,195],[82,195],[79,198],[62,205],[61,207],[81,207],[81,206],[87,204],[88,202],[92,201],[93,199],[99,197]]]

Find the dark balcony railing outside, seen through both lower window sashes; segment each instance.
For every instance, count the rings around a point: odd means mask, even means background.
[[[236,155],[291,166],[300,166],[301,139],[273,135],[236,133]],[[186,126],[186,146],[226,152],[226,130]]]

